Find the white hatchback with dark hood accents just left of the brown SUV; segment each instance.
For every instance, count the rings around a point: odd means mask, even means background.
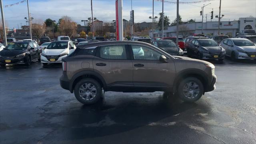
[[[68,56],[76,49],[71,41],[51,42],[41,53],[41,63],[45,66],[48,63],[61,63],[62,58]]]

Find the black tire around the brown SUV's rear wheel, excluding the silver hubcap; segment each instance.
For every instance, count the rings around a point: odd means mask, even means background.
[[[93,84],[96,88],[96,95],[94,98],[92,98],[91,100],[85,100],[84,98],[82,98],[79,94],[80,92],[80,86],[82,86],[83,84],[86,84],[86,83],[90,83],[90,84]],[[98,100],[100,100],[101,96],[102,96],[102,88],[99,84],[99,82],[97,82],[96,80],[92,79],[92,78],[84,78],[82,80],[80,80],[75,88],[74,88],[74,94],[76,96],[76,99],[81,102],[82,104],[94,104],[96,102],[98,102]],[[90,96],[89,96],[90,98]]]

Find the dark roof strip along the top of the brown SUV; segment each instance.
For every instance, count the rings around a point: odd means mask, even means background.
[[[109,45],[109,44],[143,44],[152,46],[151,44],[148,44],[146,42],[139,42],[139,41],[101,41],[101,42],[91,42],[90,44],[80,44],[77,45],[78,48],[89,48],[93,46],[103,46],[103,45]]]

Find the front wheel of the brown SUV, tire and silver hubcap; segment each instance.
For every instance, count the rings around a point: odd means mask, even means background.
[[[185,102],[195,102],[204,92],[204,86],[200,80],[194,77],[183,79],[178,86],[178,96]]]

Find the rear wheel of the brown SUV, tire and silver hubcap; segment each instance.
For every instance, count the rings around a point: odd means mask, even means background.
[[[83,104],[94,104],[102,96],[102,88],[96,80],[84,78],[76,84],[74,94],[79,102]]]

